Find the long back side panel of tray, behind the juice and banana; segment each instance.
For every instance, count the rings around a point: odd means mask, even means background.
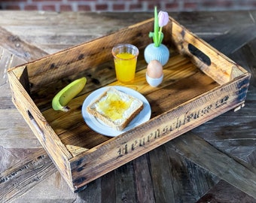
[[[32,92],[41,86],[54,83],[63,77],[74,75],[81,71],[96,67],[104,62],[113,60],[112,47],[120,43],[134,44],[142,50],[151,43],[148,33],[153,29],[152,20],[139,23],[126,29],[121,29],[111,35],[97,38],[76,47],[63,50],[35,62],[27,64]],[[166,35],[166,40],[168,35]],[[140,53],[143,54],[143,53]],[[113,62],[114,66],[114,62]]]

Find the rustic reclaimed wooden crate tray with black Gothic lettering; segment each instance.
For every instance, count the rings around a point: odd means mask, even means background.
[[[62,177],[77,192],[92,180],[200,126],[245,102],[250,74],[170,17],[163,44],[171,56],[163,83],[145,80],[145,47],[154,19],[111,35],[8,70],[14,105],[23,115]],[[129,43],[139,48],[136,80],[123,85],[115,79],[111,48]],[[87,77],[83,91],[68,112],[53,111],[53,96],[76,78]],[[90,92],[120,85],[142,93],[151,105],[151,119],[111,138],[84,122],[81,106]]]

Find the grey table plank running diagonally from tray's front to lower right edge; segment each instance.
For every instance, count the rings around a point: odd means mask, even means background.
[[[186,149],[182,148],[181,154],[186,154],[188,159],[195,162],[197,165],[206,168],[206,170],[211,168],[210,171],[217,177],[226,180],[233,186],[239,187],[243,192],[246,192],[255,198],[256,189],[253,186],[256,183],[256,176],[254,175],[256,170],[254,167],[248,168],[248,165],[242,165],[230,158],[230,156],[227,156],[224,153],[219,153],[215,147],[211,147],[211,145],[207,144],[203,139],[194,138],[194,135],[191,132],[187,132],[182,140],[181,138],[176,138],[173,142],[169,142],[168,144],[173,144],[175,150],[179,151],[180,146],[178,144],[184,142],[187,147]],[[181,147],[184,147],[184,144],[181,144]],[[193,144],[200,147],[190,147],[190,145]],[[191,149],[193,149],[193,151],[191,151]],[[201,151],[200,153],[203,153],[204,156],[197,156],[197,154],[200,154],[199,151]],[[213,162],[215,159],[219,160],[218,163]]]

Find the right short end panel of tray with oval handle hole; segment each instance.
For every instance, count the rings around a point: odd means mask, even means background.
[[[173,19],[172,42],[179,53],[188,56],[198,68],[221,85],[247,72]]]

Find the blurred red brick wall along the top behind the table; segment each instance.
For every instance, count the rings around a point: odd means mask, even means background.
[[[157,2],[157,3],[156,3]],[[25,11],[224,11],[251,10],[255,0],[0,0],[2,10]]]

